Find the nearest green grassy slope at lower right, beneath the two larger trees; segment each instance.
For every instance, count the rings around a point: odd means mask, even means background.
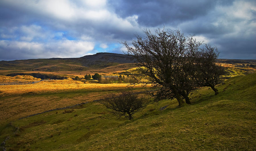
[[[70,150],[255,150],[256,74],[230,78],[220,94],[203,88],[193,105],[153,111],[101,131]],[[62,150],[66,150],[62,149]]]

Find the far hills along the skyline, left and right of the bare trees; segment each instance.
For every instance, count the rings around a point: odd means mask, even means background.
[[[239,70],[256,70],[256,60],[218,59],[219,63],[234,64]],[[116,53],[96,53],[80,58],[49,58],[0,61],[0,75],[32,75],[36,78],[65,79],[66,77],[83,77],[85,74],[100,73],[104,75],[135,68],[131,56]],[[32,74],[33,73],[33,74]],[[232,73],[232,72],[231,72]],[[41,75],[40,75],[41,74]]]

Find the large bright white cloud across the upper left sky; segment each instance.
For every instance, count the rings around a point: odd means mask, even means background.
[[[106,0],[44,0],[30,3],[26,0],[3,0],[2,3],[24,12],[24,23],[30,24],[20,27],[24,33],[20,40],[23,41],[49,40],[56,35],[49,33],[48,30],[59,30],[68,31],[66,36],[72,35],[74,39],[106,43],[117,42],[124,35],[133,37],[134,32],[141,31],[137,15],[121,18],[110,9]],[[39,19],[42,24],[31,24],[31,20],[26,21],[27,16],[36,22]],[[34,16],[36,18],[33,18]]]

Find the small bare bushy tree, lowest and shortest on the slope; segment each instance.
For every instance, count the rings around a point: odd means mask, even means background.
[[[129,120],[133,119],[133,114],[141,111],[148,104],[143,97],[139,98],[139,95],[133,91],[123,91],[117,95],[111,93],[105,97],[104,100],[100,101],[101,104],[112,109],[115,116],[124,116]]]

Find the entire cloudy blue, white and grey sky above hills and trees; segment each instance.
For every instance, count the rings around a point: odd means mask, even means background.
[[[120,41],[163,27],[256,59],[255,0],[1,0],[0,60],[123,54]]]

